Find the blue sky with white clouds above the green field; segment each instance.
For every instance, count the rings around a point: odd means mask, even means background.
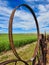
[[[0,33],[8,33],[9,19],[13,9],[28,4],[38,20],[40,32],[49,33],[49,0],[0,0]],[[30,11],[21,6],[15,12],[13,33],[36,33],[36,24]]]

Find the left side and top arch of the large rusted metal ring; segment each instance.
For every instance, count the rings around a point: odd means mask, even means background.
[[[36,16],[35,16],[34,11],[33,11],[32,8],[31,8],[30,6],[28,6],[27,4],[21,4],[21,5],[17,6],[17,7],[12,11],[12,14],[11,14],[10,20],[9,20],[9,41],[10,41],[10,45],[11,45],[11,48],[12,48],[12,50],[13,50],[14,55],[15,55],[19,60],[22,60],[22,59],[19,57],[19,55],[18,55],[18,53],[17,53],[17,51],[16,51],[16,49],[15,49],[14,42],[13,42],[13,36],[12,36],[12,23],[13,23],[14,13],[15,13],[16,9],[19,8],[20,6],[25,6],[25,7],[27,7],[27,8],[30,10],[30,12],[32,13],[32,15],[33,15],[33,17],[34,17],[34,19],[35,19],[36,27],[37,27],[37,37],[38,37],[38,40],[39,40],[39,26],[38,26],[38,21],[37,21],[37,19],[36,19]],[[36,46],[36,47],[37,47],[37,46]],[[36,50],[38,50],[38,49],[36,49]],[[37,52],[37,51],[36,51],[36,52]]]

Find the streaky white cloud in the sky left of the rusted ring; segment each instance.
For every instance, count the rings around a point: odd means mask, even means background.
[[[8,7],[8,2],[0,0],[0,33],[4,33],[5,29],[8,30],[10,13],[11,9]]]

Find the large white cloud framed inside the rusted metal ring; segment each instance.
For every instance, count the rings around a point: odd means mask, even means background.
[[[21,22],[17,22],[17,17],[22,20]],[[24,12],[22,10],[16,11],[15,13],[15,18],[13,22],[13,27],[14,28],[21,28],[23,30],[30,30],[32,28],[35,28],[35,21],[33,19],[33,16],[31,13]]]

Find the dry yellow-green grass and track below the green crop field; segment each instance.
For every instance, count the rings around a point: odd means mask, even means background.
[[[17,49],[17,52],[22,59],[28,60],[33,56],[35,46],[36,46],[35,43],[27,44],[26,46],[23,46]],[[9,60],[9,59],[16,59],[12,51],[8,51],[6,53],[0,53],[0,62]],[[14,65],[14,63],[8,64],[8,65]],[[21,62],[18,62],[17,65],[24,65],[24,64]],[[29,63],[29,65],[31,65],[31,63]]]

